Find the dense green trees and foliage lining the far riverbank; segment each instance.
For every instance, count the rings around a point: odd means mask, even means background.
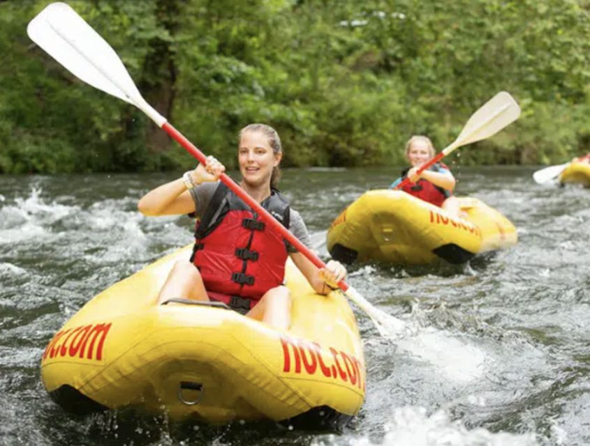
[[[50,0],[0,2],[0,173],[184,169],[138,110],[31,43]],[[563,162],[590,143],[588,0],[72,0],[145,98],[235,167],[237,133],[279,131],[286,166],[403,164],[494,93],[523,114],[464,164]]]

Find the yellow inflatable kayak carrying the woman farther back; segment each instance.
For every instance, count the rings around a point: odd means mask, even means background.
[[[422,265],[464,263],[475,254],[517,243],[515,226],[471,197],[459,197],[465,218],[399,190],[365,192],[332,222],[327,249],[345,263],[376,260]]]

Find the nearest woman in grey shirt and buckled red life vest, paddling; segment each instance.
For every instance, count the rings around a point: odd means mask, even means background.
[[[283,151],[276,131],[251,124],[239,133],[239,185],[304,245],[311,239],[297,211],[291,209],[276,185]],[[219,176],[226,168],[214,157],[182,178],[156,187],[138,203],[144,215],[196,215],[191,259],[172,268],[158,303],[171,298],[218,300],[236,311],[277,329],[290,325],[290,293],[283,285],[287,257],[312,288],[327,294],[346,277],[346,269],[329,261],[318,269],[260,219]]]

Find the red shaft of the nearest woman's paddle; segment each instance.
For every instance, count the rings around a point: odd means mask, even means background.
[[[196,159],[199,160],[199,162],[201,164],[203,164],[203,165],[207,164],[207,157],[205,157],[205,155],[203,155],[203,153],[198,148],[196,148],[196,146],[193,143],[191,143],[191,141],[186,139],[181,132],[179,132],[174,127],[172,127],[172,125],[170,123],[168,123],[168,122],[164,123],[164,125],[162,125],[162,128],[173,139],[175,139],[178,142],[178,144],[180,144],[181,146],[186,148],[186,151],[191,153],[191,155],[193,155],[193,157],[196,157]],[[258,202],[256,202],[255,199],[250,197],[249,194],[247,194],[242,189],[242,187],[239,187],[239,185],[237,185],[237,183],[235,183],[234,180],[232,180],[226,174],[221,174],[220,179],[239,198],[244,200],[244,202],[248,206],[250,206],[258,215],[260,215],[260,217],[263,217],[263,220],[265,220],[266,224],[269,224],[270,226],[272,226],[273,229],[275,229],[276,231],[279,231],[279,233],[281,233],[281,235],[284,238],[286,238],[287,241],[297,249],[297,251],[301,252],[304,256],[306,256],[307,259],[309,259],[311,261],[311,263],[314,263],[314,265],[317,266],[318,268],[325,268],[325,263],[323,263],[323,261],[318,256],[316,256],[316,254],[311,252],[311,250],[308,249],[307,246],[305,246],[303,243],[301,243],[299,241],[299,239],[297,239],[297,237],[293,236],[293,234],[290,233],[290,231],[288,229],[286,229],[285,226],[283,226],[281,223],[279,223],[279,221],[276,220],[276,218],[272,217],[272,215],[270,215],[270,213],[268,213],[268,211],[265,208],[260,206],[260,204]],[[346,282],[344,282],[344,280],[339,282],[338,286],[342,291],[346,291],[348,289],[348,284],[346,284]]]

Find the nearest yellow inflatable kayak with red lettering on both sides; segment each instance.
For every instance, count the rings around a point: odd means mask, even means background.
[[[289,261],[286,332],[223,304],[156,305],[172,264],[190,253],[184,247],[110,286],[54,335],[41,362],[54,401],[78,414],[132,406],[172,420],[314,428],[337,428],[360,410],[362,342],[342,293],[314,293]]]

